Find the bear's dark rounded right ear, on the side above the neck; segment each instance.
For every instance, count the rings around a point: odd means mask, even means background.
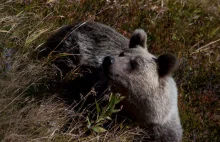
[[[177,58],[170,53],[162,54],[157,59],[158,72],[160,77],[170,75],[178,65]]]

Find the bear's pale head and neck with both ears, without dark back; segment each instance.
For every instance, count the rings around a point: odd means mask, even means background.
[[[115,91],[126,96],[123,109],[151,130],[156,141],[180,142],[183,130],[177,87],[171,76],[178,62],[170,53],[158,58],[149,53],[146,40],[144,30],[135,30],[129,48],[104,58],[103,71]]]

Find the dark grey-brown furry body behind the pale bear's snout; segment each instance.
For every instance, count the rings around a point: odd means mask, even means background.
[[[91,88],[94,95],[103,96],[108,83],[102,61],[106,56],[118,55],[128,44],[126,37],[98,22],[79,22],[60,28],[38,50],[38,59],[54,58],[52,64],[57,76],[48,83],[49,91],[59,91],[62,99],[69,103],[80,100]],[[65,55],[59,56],[61,54]],[[67,81],[68,73],[79,67],[82,75]],[[93,97],[87,100],[92,103]]]

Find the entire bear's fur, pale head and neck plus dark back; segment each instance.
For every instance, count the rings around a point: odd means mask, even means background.
[[[155,141],[181,141],[177,87],[171,76],[177,59],[172,54],[152,55],[146,40],[141,29],[129,41],[106,25],[84,22],[61,28],[47,40],[39,57],[68,53],[53,61],[63,76],[77,67],[89,70],[64,85],[70,95],[86,94],[93,87],[101,94],[110,82],[115,92],[126,96],[123,110],[152,131]]]

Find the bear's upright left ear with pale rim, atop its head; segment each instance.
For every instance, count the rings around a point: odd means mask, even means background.
[[[147,48],[147,34],[143,29],[136,29],[130,39],[129,48],[136,48],[137,46]]]

